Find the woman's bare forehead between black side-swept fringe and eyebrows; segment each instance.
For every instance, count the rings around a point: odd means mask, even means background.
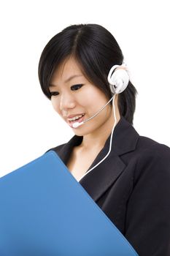
[[[73,59],[69,58],[64,60],[57,69],[55,69],[50,83],[67,83],[73,78],[84,77],[80,64]]]

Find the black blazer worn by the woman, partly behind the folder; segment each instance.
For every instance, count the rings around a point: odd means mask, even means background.
[[[89,169],[106,156],[109,140],[110,136]],[[51,149],[66,164],[72,148],[81,142],[82,136],[74,135],[68,143]],[[170,255],[168,146],[139,136],[121,117],[115,127],[109,156],[87,173],[80,184],[139,256]]]

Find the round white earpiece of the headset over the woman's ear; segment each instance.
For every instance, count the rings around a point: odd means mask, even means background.
[[[117,69],[117,67],[120,68]],[[129,75],[125,65],[113,66],[109,71],[107,80],[113,94],[120,94],[123,92],[128,86],[129,82]]]

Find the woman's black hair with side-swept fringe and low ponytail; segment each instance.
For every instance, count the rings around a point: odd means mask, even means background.
[[[98,24],[79,24],[66,27],[50,39],[39,60],[39,83],[48,99],[53,72],[70,56],[78,61],[85,77],[110,99],[112,92],[107,81],[109,69],[123,63],[123,53],[115,37]],[[125,91],[118,95],[120,116],[131,124],[136,108],[136,93],[129,81]]]

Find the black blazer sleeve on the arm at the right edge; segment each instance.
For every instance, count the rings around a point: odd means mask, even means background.
[[[136,164],[125,237],[139,256],[170,255],[170,148],[146,150]]]

